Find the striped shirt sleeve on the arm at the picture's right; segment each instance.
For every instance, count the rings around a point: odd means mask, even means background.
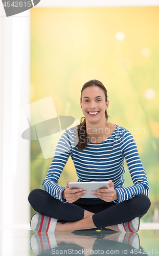
[[[121,153],[125,157],[131,179],[132,186],[115,188],[118,193],[118,200],[114,202],[120,203],[122,201],[133,198],[136,195],[149,195],[149,184],[145,174],[144,167],[139,157],[137,145],[128,130],[123,131],[119,139]]]

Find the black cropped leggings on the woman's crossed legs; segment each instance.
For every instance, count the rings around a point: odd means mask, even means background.
[[[135,217],[141,218],[151,204],[145,195],[138,195],[118,204],[84,198],[73,203],[63,203],[38,188],[31,191],[28,200],[39,214],[67,222],[83,219],[84,209],[91,211],[94,213],[92,218],[97,228],[128,222]]]

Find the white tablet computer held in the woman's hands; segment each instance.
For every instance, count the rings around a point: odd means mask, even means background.
[[[108,188],[109,184],[107,181],[101,182],[69,182],[69,188],[82,188],[86,190],[86,195],[81,198],[97,198],[92,195],[93,190],[97,190],[99,188]]]

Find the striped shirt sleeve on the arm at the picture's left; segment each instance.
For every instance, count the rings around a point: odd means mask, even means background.
[[[42,183],[43,190],[47,191],[52,197],[62,200],[62,192],[65,187],[57,184],[58,179],[62,173],[62,170],[70,156],[71,141],[67,132],[60,137],[55,154],[48,170],[47,176]]]

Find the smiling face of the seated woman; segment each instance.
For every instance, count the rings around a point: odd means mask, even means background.
[[[109,101],[105,101],[105,93],[99,86],[89,86],[82,91],[81,109],[86,121],[97,123],[105,120],[105,110]]]

